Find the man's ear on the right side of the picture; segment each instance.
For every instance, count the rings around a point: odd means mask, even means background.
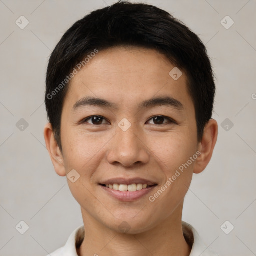
[[[217,135],[218,124],[216,120],[210,119],[205,125],[201,142],[198,145],[198,151],[201,154],[196,159],[194,173],[202,172],[208,165],[217,141]]]

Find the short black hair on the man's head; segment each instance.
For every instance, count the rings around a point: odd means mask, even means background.
[[[61,113],[70,72],[92,52],[115,46],[155,49],[186,74],[200,141],[212,115],[215,95],[214,75],[204,44],[164,10],[143,3],[118,1],[75,22],[50,56],[45,105],[60,150]]]

